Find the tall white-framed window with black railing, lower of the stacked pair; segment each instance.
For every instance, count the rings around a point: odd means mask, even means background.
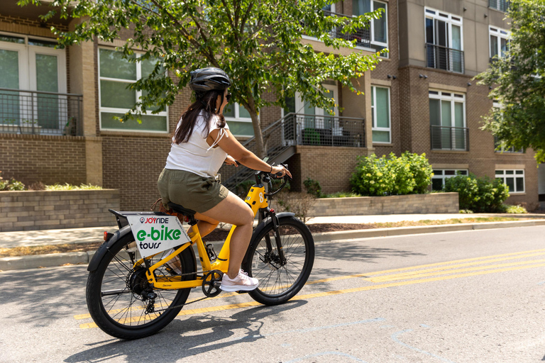
[[[464,94],[430,90],[429,124],[432,150],[469,150]]]

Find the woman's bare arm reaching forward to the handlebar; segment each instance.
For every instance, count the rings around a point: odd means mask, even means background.
[[[250,150],[246,149],[246,147],[243,147],[242,144],[239,143],[238,140],[236,140],[230,130],[225,131],[226,133],[228,133],[229,138],[226,137],[227,135],[224,135],[224,137],[219,140],[218,146],[221,147],[222,150],[234,157],[245,167],[249,167],[250,169],[254,170],[261,170],[263,172],[271,171],[270,165],[261,160],[259,157],[255,156],[255,154]],[[217,140],[218,135],[218,129],[212,130],[209,134],[207,142],[209,143],[210,139]],[[285,169],[285,167],[282,167],[282,165],[272,167],[272,173],[277,174],[279,172],[281,172],[282,175],[288,174],[290,177],[292,177],[292,174],[287,169]]]

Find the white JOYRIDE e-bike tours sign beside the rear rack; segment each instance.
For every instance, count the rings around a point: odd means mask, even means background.
[[[176,216],[126,216],[142,257],[170,250],[191,239]]]

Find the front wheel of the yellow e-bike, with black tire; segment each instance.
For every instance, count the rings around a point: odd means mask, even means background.
[[[248,294],[268,306],[285,303],[295,296],[307,283],[314,264],[314,239],[307,225],[293,216],[280,217],[278,221],[286,264],[281,266],[277,259],[272,223],[256,230],[243,263],[248,276],[259,280],[258,289]],[[270,236],[271,252],[267,251],[267,235]]]

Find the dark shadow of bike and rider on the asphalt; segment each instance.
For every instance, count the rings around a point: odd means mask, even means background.
[[[213,315],[176,318],[158,334],[140,340],[106,340],[67,357],[64,362],[101,362],[125,357],[127,362],[176,362],[205,352],[214,352],[240,342],[263,339],[263,319],[304,306],[307,301],[290,301],[281,306],[258,306],[221,318]],[[289,328],[290,322],[277,316],[275,324]],[[244,330],[241,335],[239,331]],[[277,329],[275,329],[277,330]],[[237,332],[237,333],[235,333]],[[235,334],[237,334],[235,336]],[[98,343],[98,344],[101,344]],[[234,357],[233,357],[234,359]]]

